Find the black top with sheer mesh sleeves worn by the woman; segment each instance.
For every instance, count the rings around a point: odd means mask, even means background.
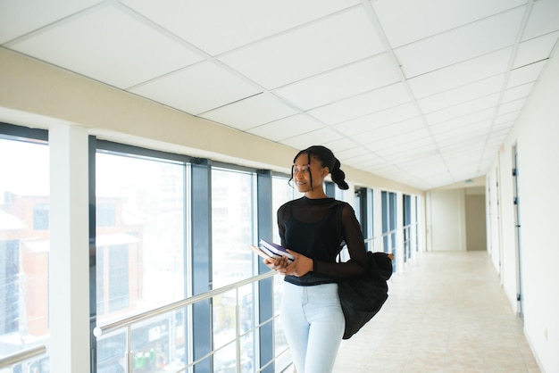
[[[340,251],[336,211],[341,211],[341,235],[346,241],[351,262],[336,262]],[[313,271],[305,276],[286,276],[296,285],[337,282],[338,278],[363,275],[366,271],[366,249],[359,221],[350,204],[334,198],[302,197],[278,209],[281,245],[313,259]]]

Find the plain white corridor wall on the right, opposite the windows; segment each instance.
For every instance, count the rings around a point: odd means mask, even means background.
[[[488,183],[495,184],[497,170],[501,181],[501,271],[510,299],[516,294],[518,280],[511,201],[512,153],[513,146],[518,146],[524,329],[541,369],[546,372],[559,372],[558,139],[559,56],[555,53],[488,172]],[[499,234],[493,217],[489,228],[491,236]],[[514,309],[515,301],[511,299],[511,303]]]

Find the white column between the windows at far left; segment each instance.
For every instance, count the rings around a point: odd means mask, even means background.
[[[50,370],[88,372],[88,132],[58,124],[48,137]]]

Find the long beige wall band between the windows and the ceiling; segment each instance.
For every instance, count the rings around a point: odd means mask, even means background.
[[[88,128],[99,138],[247,167],[288,172],[298,149],[179,112],[0,47],[0,121]],[[314,144],[309,144],[314,145]],[[362,187],[421,190],[344,167]]]

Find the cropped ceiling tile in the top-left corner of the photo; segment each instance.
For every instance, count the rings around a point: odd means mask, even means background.
[[[0,44],[45,27],[102,0],[0,1]]]

